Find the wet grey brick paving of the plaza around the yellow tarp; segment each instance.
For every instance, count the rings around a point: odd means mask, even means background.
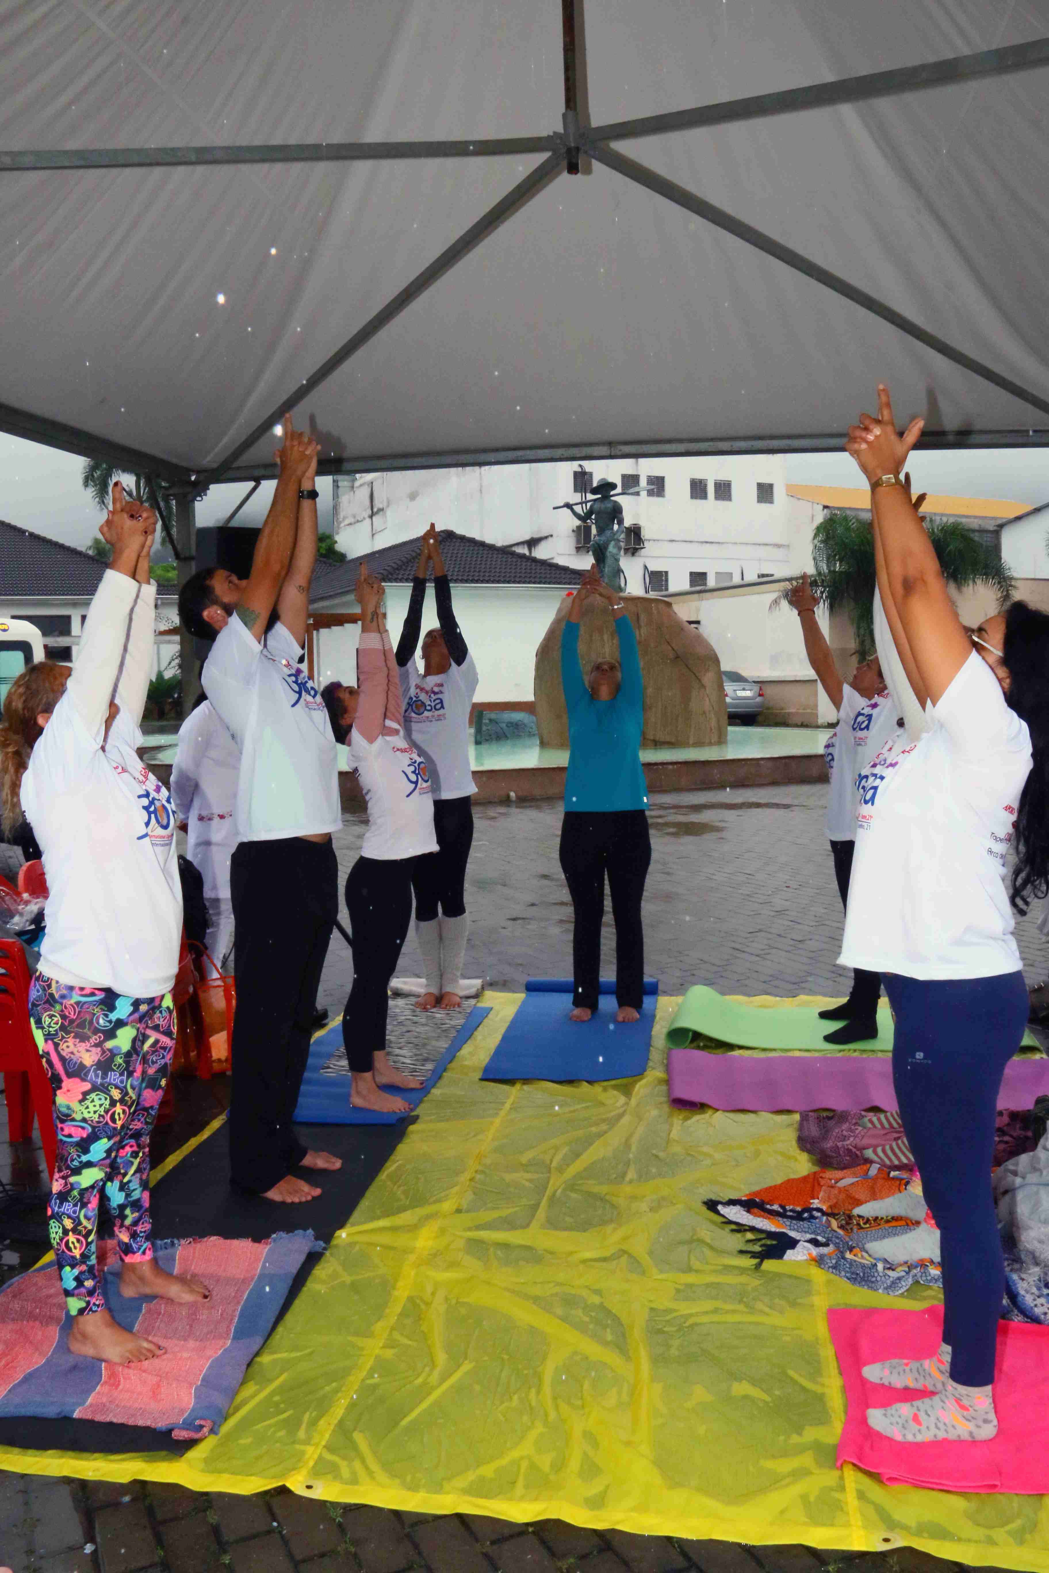
[[[646,897],[648,972],[664,993],[706,982],[723,993],[845,993],[835,969],[841,909],[823,838],[826,788],[782,786],[675,793],[653,801],[653,871]],[[467,971],[494,988],[525,977],[563,975],[571,953],[571,904],[557,862],[554,804],[477,810],[469,904]],[[337,849],[343,878],[363,824],[348,818]],[[1029,982],[1049,971],[1049,947],[1033,917],[1019,925]],[[612,956],[609,925],[605,955]],[[409,939],[404,972],[418,972]],[[352,967],[335,936],[321,1004],[341,1013]],[[209,1118],[223,1082],[181,1093],[170,1150]],[[160,1156],[159,1153],[156,1156]],[[39,1158],[0,1144],[0,1175],[17,1189],[42,1186]],[[17,1241],[0,1257],[16,1271]],[[922,1553],[813,1553],[727,1542],[598,1534],[547,1521],[426,1518],[374,1507],[333,1507],[278,1491],[264,1497],[197,1496],[178,1486],[98,1485],[0,1474],[0,1567],[13,1573],[849,1573],[951,1570]]]

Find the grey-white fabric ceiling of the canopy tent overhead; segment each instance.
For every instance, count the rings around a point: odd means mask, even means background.
[[[576,28],[580,121],[601,127],[1030,44],[1049,35],[1049,0],[576,0]],[[816,447],[884,379],[942,440],[1049,442],[1047,82],[1043,63],[615,138],[577,178],[541,143],[160,168],[25,170],[0,154],[0,425],[140,450],[171,477],[259,472],[272,436],[245,439],[282,406],[349,470]],[[563,109],[557,0],[5,8],[8,153],[543,138]],[[609,168],[605,146],[1019,392]],[[313,385],[546,160],[528,200]]]

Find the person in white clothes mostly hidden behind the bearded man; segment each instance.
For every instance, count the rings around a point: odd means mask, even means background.
[[[237,845],[239,772],[241,750],[215,706],[201,697],[179,727],[171,802],[186,824],[186,854],[204,884],[208,955],[223,969],[233,952],[230,859]]]

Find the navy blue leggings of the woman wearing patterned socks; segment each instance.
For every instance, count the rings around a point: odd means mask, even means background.
[[[929,982],[895,974],[892,1079],[922,1189],[940,1230],[944,1342],[967,1387],[994,1381],[1005,1268],[991,1195],[994,1122],[1005,1066],[1027,1026],[1022,972]]]

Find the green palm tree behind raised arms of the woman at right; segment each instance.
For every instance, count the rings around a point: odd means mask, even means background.
[[[951,590],[986,585],[1003,606],[1013,595],[1013,576],[1000,557],[978,541],[958,519],[939,524],[926,519],[925,530],[944,579]],[[860,659],[873,654],[873,602],[878,576],[874,571],[874,535],[870,519],[851,513],[829,513],[812,533],[813,573],[810,587],[827,612],[845,609],[856,634]],[[777,596],[774,606],[782,602]]]

